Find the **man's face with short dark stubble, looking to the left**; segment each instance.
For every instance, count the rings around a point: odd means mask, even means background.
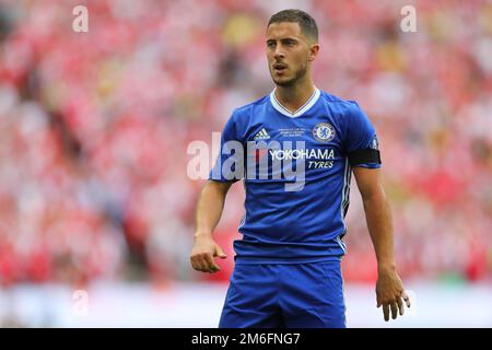
[[[314,59],[311,47],[298,23],[270,24],[267,30],[267,58],[271,78],[277,85],[293,85],[305,77],[308,61]]]

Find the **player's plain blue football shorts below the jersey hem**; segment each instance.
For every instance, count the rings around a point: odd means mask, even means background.
[[[236,264],[220,328],[345,328],[340,260]]]

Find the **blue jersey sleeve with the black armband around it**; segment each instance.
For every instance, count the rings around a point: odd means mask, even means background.
[[[349,108],[344,149],[349,159],[356,156],[363,160],[359,161],[355,166],[380,167],[376,130],[367,115],[355,102],[352,102],[352,106]]]

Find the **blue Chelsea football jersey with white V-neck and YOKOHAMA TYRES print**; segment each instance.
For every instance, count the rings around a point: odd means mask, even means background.
[[[236,262],[340,259],[351,180],[348,156],[371,148],[377,149],[376,133],[359,105],[318,89],[295,113],[274,92],[235,109],[209,179],[244,180]]]

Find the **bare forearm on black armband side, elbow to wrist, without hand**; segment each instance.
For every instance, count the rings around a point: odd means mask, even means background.
[[[367,229],[378,269],[395,268],[391,211],[384,191],[363,199]]]

